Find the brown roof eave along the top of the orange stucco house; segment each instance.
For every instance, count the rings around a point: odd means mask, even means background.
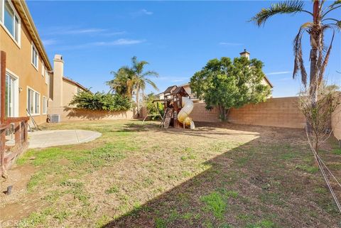
[[[30,33],[33,43],[38,49],[40,58],[43,58],[43,60],[45,61],[45,66],[48,68],[48,70],[52,70],[52,65],[50,63],[50,60],[48,60],[48,55],[46,54],[43,42],[41,41],[37,28],[33,22],[31,13],[28,10],[26,1],[12,1],[12,3],[16,6],[16,9],[21,16],[22,21],[24,21],[28,33]]]

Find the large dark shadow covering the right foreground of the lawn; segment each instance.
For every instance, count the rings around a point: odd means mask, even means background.
[[[103,227],[337,227],[337,208],[312,166],[303,131],[232,128],[261,130],[259,138],[207,161],[202,173]]]

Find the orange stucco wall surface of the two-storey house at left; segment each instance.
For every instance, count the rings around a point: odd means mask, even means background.
[[[43,114],[43,96],[49,97],[48,85],[45,84],[45,77],[42,76],[42,59],[39,53],[38,70],[31,64],[31,43],[32,39],[21,18],[21,46],[18,47],[13,39],[0,26],[0,50],[6,52],[6,68],[18,77],[18,116],[27,116],[27,89],[31,87],[40,93],[40,115],[33,116],[38,124],[45,122],[46,115]],[[47,64],[45,64],[47,65]]]

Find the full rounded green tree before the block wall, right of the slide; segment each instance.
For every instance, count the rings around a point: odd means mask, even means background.
[[[229,109],[244,104],[263,102],[271,94],[264,85],[263,63],[247,58],[213,59],[190,78],[190,87],[197,97],[204,99],[207,109],[218,107],[220,119],[226,119]]]

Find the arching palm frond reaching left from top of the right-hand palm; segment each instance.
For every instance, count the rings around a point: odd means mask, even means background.
[[[282,1],[271,4],[269,8],[261,9],[250,21],[256,22],[258,26],[264,24],[271,16],[276,14],[291,14],[304,11],[304,2],[301,0]]]

